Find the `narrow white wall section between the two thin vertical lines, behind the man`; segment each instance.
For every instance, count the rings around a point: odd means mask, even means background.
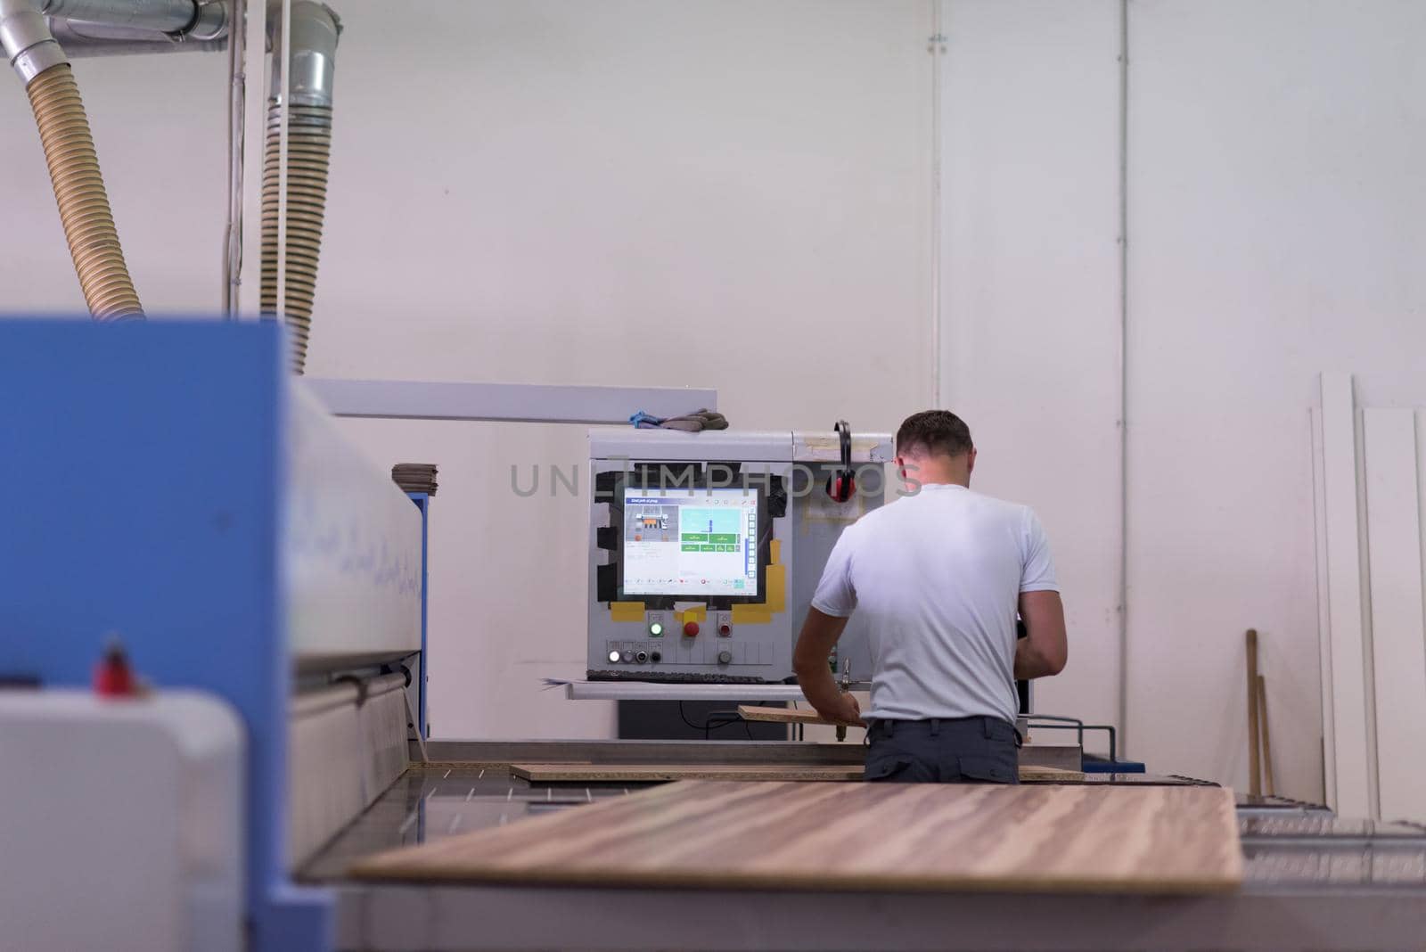
[[[971,485],[1051,539],[1071,661],[1035,707],[1092,724],[1118,720],[1118,16],[977,0],[943,23],[945,403]]]

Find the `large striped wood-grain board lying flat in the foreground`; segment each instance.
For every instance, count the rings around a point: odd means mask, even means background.
[[[683,781],[378,854],[359,879],[877,892],[1222,892],[1216,787]]]

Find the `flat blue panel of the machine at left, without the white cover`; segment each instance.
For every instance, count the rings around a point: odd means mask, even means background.
[[[284,855],[284,366],[271,322],[0,321],[0,678],[87,685],[116,633],[155,685],[227,698],[254,948],[324,949]]]

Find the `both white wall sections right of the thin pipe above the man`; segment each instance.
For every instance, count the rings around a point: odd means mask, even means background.
[[[1415,3],[1132,0],[1128,737],[1243,784],[1243,630],[1279,791],[1319,798],[1306,412],[1322,369],[1416,405],[1426,29]],[[1118,705],[1118,13],[950,0],[943,368],[981,486],[1035,505],[1071,664],[1044,710]]]

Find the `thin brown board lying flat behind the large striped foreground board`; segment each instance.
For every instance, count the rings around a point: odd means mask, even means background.
[[[672,780],[861,780],[861,764],[511,764],[511,775],[535,784],[662,782]],[[1084,774],[1058,767],[1020,765],[1022,782],[1077,782]]]

